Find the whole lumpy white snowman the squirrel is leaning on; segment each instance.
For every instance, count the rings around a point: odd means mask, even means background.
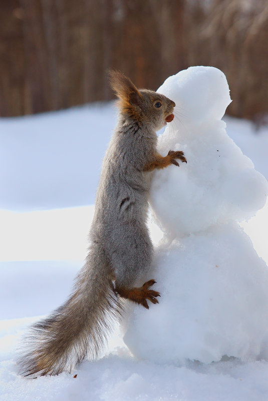
[[[268,269],[238,224],[264,206],[268,184],[226,134],[226,78],[190,67],[158,92],[176,103],[159,152],[183,150],[187,164],[153,175],[150,203],[164,238],[148,279],[161,298],[149,311],[132,309],[124,341],[159,363],[268,358]]]

